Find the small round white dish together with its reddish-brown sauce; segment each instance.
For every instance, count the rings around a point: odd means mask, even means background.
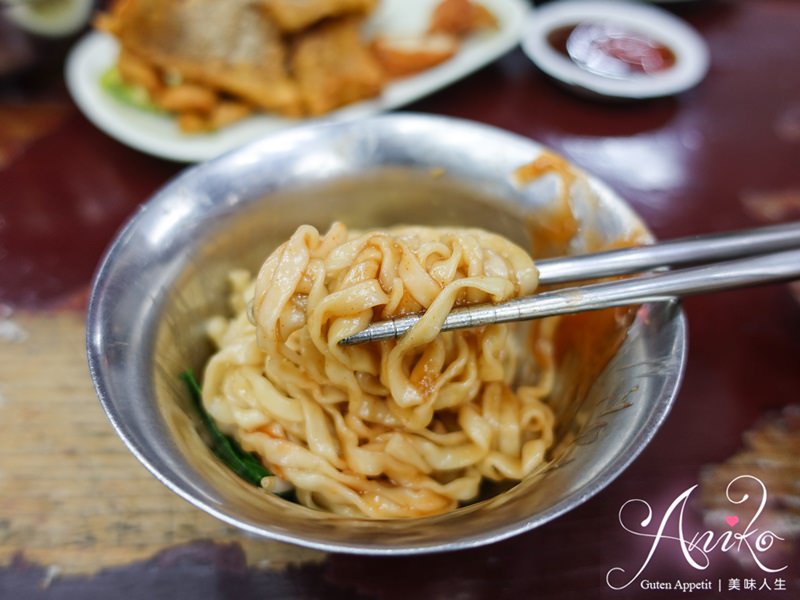
[[[544,73],[583,94],[643,99],[694,87],[708,48],[672,14],[632,2],[576,0],[531,12],[522,49]]]

